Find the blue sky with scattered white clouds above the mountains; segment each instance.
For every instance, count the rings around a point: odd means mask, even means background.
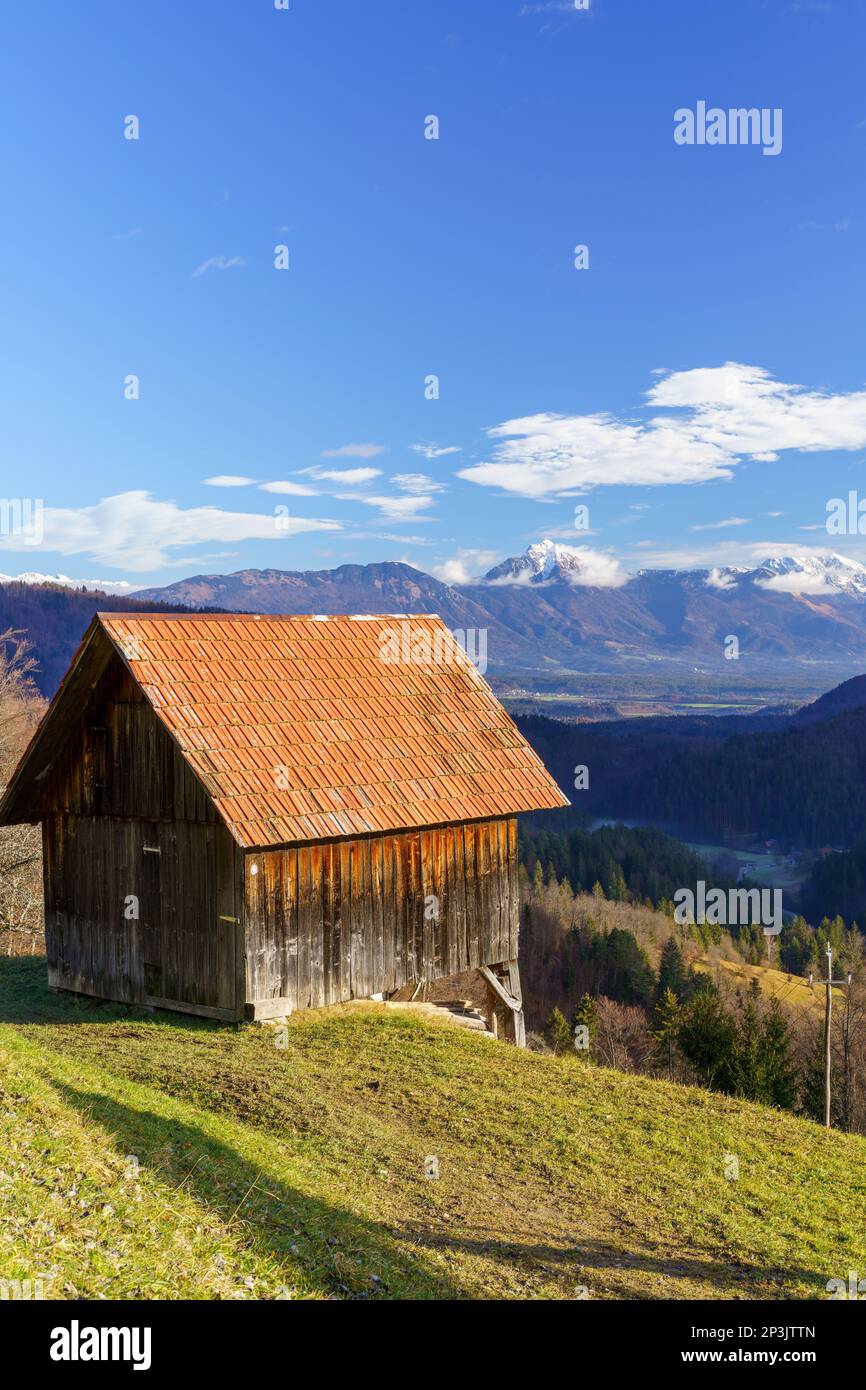
[[[43,510],[0,569],[866,560],[824,528],[866,450],[865,42],[855,0],[15,7],[0,492]],[[676,143],[699,101],[781,110],[780,153]]]

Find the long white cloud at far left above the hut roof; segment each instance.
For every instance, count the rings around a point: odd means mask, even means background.
[[[339,521],[285,517],[277,513],[222,512],[220,507],[179,507],[149,492],[120,492],[89,507],[46,507],[40,545],[28,552],[86,555],[100,564],[128,571],[160,570],[170,550],[213,541],[279,541],[303,531],[339,531]],[[0,548],[21,546],[15,535],[1,535]]]

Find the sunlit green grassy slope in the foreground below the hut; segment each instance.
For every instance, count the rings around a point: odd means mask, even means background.
[[[0,1277],[50,1297],[785,1298],[866,1269],[860,1138],[375,1005],[281,1040],[43,981],[0,962]]]

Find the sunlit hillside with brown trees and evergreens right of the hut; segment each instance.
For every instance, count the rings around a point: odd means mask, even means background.
[[[833,1011],[831,1119],[866,1133],[866,952],[856,929],[795,919],[770,967],[760,965],[759,931],[733,940],[720,927],[609,902],[601,888],[573,895],[553,876],[537,874],[524,892],[527,1020],[555,1052],[578,1065],[698,1081],[813,1119],[824,1106],[823,1011],[803,974],[822,977],[831,945],[838,979],[851,972]]]

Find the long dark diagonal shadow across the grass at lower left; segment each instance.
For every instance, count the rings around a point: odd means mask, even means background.
[[[459,1284],[425,1266],[423,1255],[409,1258],[391,1236],[395,1227],[285,1186],[195,1125],[64,1081],[51,1084],[68,1105],[114,1136],[120,1154],[135,1154],[142,1170],[192,1194],[260,1257],[285,1262],[285,1284],[292,1284],[291,1272],[300,1266],[307,1284],[325,1297],[466,1297]],[[278,1286],[275,1279],[259,1297],[277,1297]]]

